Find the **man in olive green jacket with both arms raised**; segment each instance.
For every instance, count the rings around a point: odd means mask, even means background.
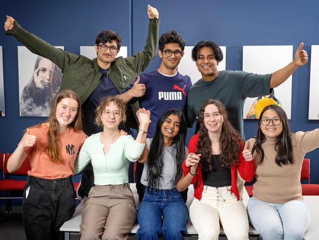
[[[110,30],[103,31],[97,36],[95,41],[97,58],[94,60],[55,48],[24,30],[12,17],[7,16],[4,30],[7,35],[13,35],[32,53],[51,60],[62,70],[60,90],[71,89],[80,96],[84,116],[83,130],[87,135],[91,135],[99,131],[94,125],[94,111],[99,100],[122,92],[156,56],[160,25],[159,12],[148,5],[147,13],[150,23],[144,50],[128,58],[116,58],[121,47],[121,38],[116,32]],[[132,111],[129,111],[126,129],[129,127],[138,129],[135,116],[137,109],[138,103],[131,105]],[[89,169],[92,167],[89,166]],[[81,183],[86,196],[93,182],[93,171],[83,172]]]

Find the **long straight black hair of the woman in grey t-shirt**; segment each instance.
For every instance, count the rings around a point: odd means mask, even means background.
[[[160,119],[156,124],[156,131],[153,137],[150,151],[147,157],[147,166],[148,166],[148,174],[147,174],[147,182],[150,187],[159,188],[160,187],[160,179],[162,170],[163,170],[163,135],[161,133],[161,126],[163,122],[167,119],[169,115],[177,115],[180,117],[180,130],[178,134],[173,139],[174,151],[175,154],[175,179],[174,185],[177,184],[178,180],[182,177],[182,163],[185,159],[185,140],[186,140],[186,120],[184,114],[181,110],[178,109],[170,109],[162,114]]]

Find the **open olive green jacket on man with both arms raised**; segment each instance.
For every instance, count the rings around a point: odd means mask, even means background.
[[[114,86],[121,92],[128,87],[145,70],[149,62],[156,56],[159,38],[160,20],[150,19],[148,35],[144,50],[132,57],[115,58],[107,71],[108,77]],[[75,55],[55,48],[36,35],[24,30],[17,21],[14,21],[12,30],[6,31],[27,47],[32,53],[53,61],[63,72],[60,90],[71,89],[79,96],[83,103],[101,83],[102,73],[99,70],[97,59],[90,60],[82,55]],[[138,102],[131,105],[133,113],[139,108]],[[138,128],[135,118],[127,120],[127,126]]]

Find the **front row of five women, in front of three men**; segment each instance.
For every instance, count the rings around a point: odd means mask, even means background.
[[[30,156],[23,199],[27,239],[63,239],[59,228],[75,210],[71,176],[89,161],[95,186],[82,211],[81,239],[126,239],[136,215],[139,239],[184,239],[188,210],[181,192],[190,184],[195,198],[189,216],[199,239],[218,240],[220,222],[228,239],[248,240],[248,217],[264,240],[303,238],[309,214],[300,171],[305,153],[319,147],[319,129],[292,134],[283,109],[269,105],[256,137],[244,143],[223,104],[209,99],[200,109],[199,132],[187,152],[183,112],[165,112],[152,139],[146,138],[150,115],[145,109],[136,112],[134,140],[118,130],[126,119],[125,106],[107,97],[95,119],[103,131],[87,138],[78,95],[71,90],[57,95],[49,119],[27,129],[7,165],[16,171]],[[128,183],[129,161],[137,160],[145,165],[145,195],[138,211]],[[256,173],[247,211],[238,173],[247,181]]]

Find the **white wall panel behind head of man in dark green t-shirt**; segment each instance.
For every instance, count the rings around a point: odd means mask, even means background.
[[[198,71],[195,62],[191,59],[191,50],[194,46],[186,46],[184,49],[184,56],[178,65],[178,71],[182,75],[188,75],[191,79],[192,84],[196,83],[202,78],[201,73]],[[219,71],[226,70],[226,46],[219,46],[223,53],[223,60],[219,62],[217,69]]]

